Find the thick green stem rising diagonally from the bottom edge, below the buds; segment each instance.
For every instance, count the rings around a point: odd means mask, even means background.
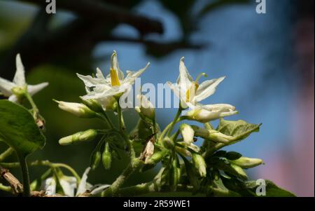
[[[135,158],[134,161],[127,166],[127,168],[123,171],[123,173],[117,177],[115,182],[111,184],[111,186],[102,192],[102,196],[118,196],[118,190],[125,183],[125,181],[132,175],[132,173],[140,168],[143,165],[143,162],[139,160],[139,158]]]

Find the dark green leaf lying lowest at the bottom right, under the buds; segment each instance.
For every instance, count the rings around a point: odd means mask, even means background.
[[[255,193],[257,187],[260,185],[260,184],[256,184],[256,181],[248,181],[248,182],[245,182],[245,184],[246,184],[246,188],[248,190],[253,191],[253,193]],[[267,197],[295,197],[293,193],[291,193],[290,191],[286,191],[285,189],[281,189],[279,186],[276,186],[276,184],[274,184],[270,180],[265,180],[265,184],[266,184]]]

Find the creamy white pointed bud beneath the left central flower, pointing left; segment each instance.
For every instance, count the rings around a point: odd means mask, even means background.
[[[57,100],[54,101],[58,103],[59,109],[68,111],[69,113],[74,114],[78,117],[92,118],[96,116],[96,113],[89,109],[85,104],[76,102],[63,102]]]

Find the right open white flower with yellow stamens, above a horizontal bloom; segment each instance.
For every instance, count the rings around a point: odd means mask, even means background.
[[[190,107],[190,104],[195,105],[196,102],[200,102],[214,94],[216,86],[225,79],[225,76],[223,76],[221,78],[207,80],[199,84],[198,81],[201,76],[207,75],[202,73],[197,76],[195,81],[193,81],[193,77],[190,76],[184,64],[184,57],[181,57],[177,83],[173,84],[169,81],[167,82],[169,87],[174,91],[175,95],[181,100],[181,107]]]

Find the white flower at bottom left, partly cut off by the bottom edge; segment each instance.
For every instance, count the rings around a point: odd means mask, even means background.
[[[80,180],[80,184],[77,186],[76,177],[68,177],[62,175],[58,178],[60,186],[64,191],[65,196],[74,197],[74,196],[83,196],[84,193],[87,195],[95,195],[101,193],[104,189],[108,188],[109,184],[98,184],[92,186],[87,183],[87,174],[90,172],[90,167],[87,168]],[[49,177],[43,182],[43,189],[45,190],[46,195],[55,195],[56,194],[56,181],[54,177]]]

